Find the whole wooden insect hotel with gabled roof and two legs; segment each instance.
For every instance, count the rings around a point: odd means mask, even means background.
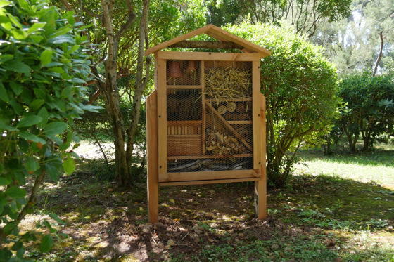
[[[208,34],[215,42],[186,41]],[[163,48],[232,48],[243,53]],[[148,213],[158,222],[158,187],[255,181],[255,211],[266,213],[265,97],[260,59],[271,54],[207,25],[149,48],[155,91],[146,101]]]

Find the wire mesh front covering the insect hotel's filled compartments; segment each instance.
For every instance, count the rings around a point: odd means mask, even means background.
[[[253,169],[252,103],[251,62],[167,60],[167,171]]]

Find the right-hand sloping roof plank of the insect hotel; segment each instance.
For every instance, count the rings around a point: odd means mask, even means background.
[[[222,28],[220,27],[211,27],[208,31],[205,32],[205,34],[208,34],[210,37],[214,37],[216,39],[220,37],[220,39],[225,39],[227,41],[232,41],[236,44],[239,44],[250,51],[259,53],[260,58],[265,58],[266,56],[271,55],[271,51],[268,51],[267,49],[262,48],[257,44],[253,44],[250,41],[246,41],[241,37],[237,37],[235,34],[231,34],[226,30],[222,30]]]

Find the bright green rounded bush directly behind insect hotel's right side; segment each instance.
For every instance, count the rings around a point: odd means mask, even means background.
[[[333,126],[340,103],[336,68],[322,48],[293,34],[291,27],[243,23],[224,29],[272,52],[260,65],[267,103],[267,178],[271,185],[282,186],[300,143],[322,143],[320,137]]]

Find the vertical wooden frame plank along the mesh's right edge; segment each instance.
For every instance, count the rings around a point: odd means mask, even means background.
[[[260,61],[252,62],[253,169],[261,168]]]

